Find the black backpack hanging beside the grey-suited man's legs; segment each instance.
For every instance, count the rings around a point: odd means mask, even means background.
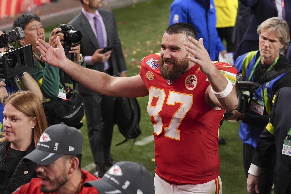
[[[140,118],[141,111],[136,98],[118,97],[116,99],[114,120],[115,124],[118,125],[119,132],[125,137],[123,142],[116,145],[125,143],[130,139],[134,139],[135,142],[135,139],[141,134]]]

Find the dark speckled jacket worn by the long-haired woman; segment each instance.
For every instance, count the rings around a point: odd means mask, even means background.
[[[6,157],[10,143],[4,141],[0,144],[0,169],[2,168],[4,159]],[[25,155],[29,154],[35,149],[34,142],[29,145],[29,148],[25,152]],[[29,183],[31,179],[37,178],[36,176],[36,163],[32,161],[24,162],[22,159],[19,161],[13,175],[6,187],[4,194],[10,194],[14,192],[19,186]],[[24,171],[28,171],[27,174],[24,174]]]

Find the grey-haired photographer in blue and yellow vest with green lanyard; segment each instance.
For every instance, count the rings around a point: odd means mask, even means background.
[[[253,154],[264,126],[268,124],[272,104],[280,88],[291,86],[291,63],[280,54],[282,48],[288,48],[290,37],[288,24],[278,17],[272,17],[262,22],[258,27],[259,51],[252,51],[239,56],[235,67],[246,76],[246,81],[255,82],[255,92],[249,100],[248,111],[241,113],[232,111],[228,118],[242,122],[239,127],[239,136],[243,141],[243,164],[246,177],[251,165]],[[260,193],[271,193],[274,180],[274,164],[276,156],[260,175]],[[253,174],[254,172],[251,172]],[[256,174],[256,175],[258,175]]]

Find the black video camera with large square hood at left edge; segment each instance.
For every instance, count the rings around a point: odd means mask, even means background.
[[[24,38],[24,31],[17,27],[12,31],[0,36],[0,47],[7,47],[7,44],[16,42]],[[0,53],[0,78],[13,78],[14,76],[34,68],[31,45],[26,45],[18,49],[9,46],[10,49]]]

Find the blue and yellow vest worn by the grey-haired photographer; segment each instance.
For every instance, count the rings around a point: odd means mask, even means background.
[[[251,71],[253,70],[255,62],[258,59],[259,55],[260,55],[260,51],[251,51],[239,56],[237,60],[235,61],[235,68],[237,68],[239,73],[242,73],[244,76],[246,76],[247,80],[249,79]],[[278,60],[276,65],[281,65],[280,60]],[[267,114],[271,114],[271,111],[272,111],[271,102],[274,97],[274,92],[272,90],[272,87],[274,83],[278,81],[279,79],[281,79],[285,74],[287,73],[282,73],[278,75],[277,77],[275,77],[274,79],[272,79],[271,81],[264,83],[262,85],[264,102],[265,102],[264,109],[266,110]],[[250,81],[253,81],[253,76],[251,77]],[[261,87],[255,90],[254,93],[255,93],[254,98],[262,100]],[[255,113],[251,110],[248,111],[248,114],[259,116],[258,113]],[[258,127],[258,126],[254,126],[250,124],[240,123],[239,137],[245,144],[251,145],[252,147],[255,148],[257,146],[258,140],[260,139],[260,134],[262,133],[263,130],[264,130],[264,127]]]

